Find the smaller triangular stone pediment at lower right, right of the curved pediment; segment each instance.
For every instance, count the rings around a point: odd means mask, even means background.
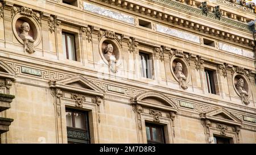
[[[216,110],[201,113],[201,118],[213,120],[215,122],[221,122],[226,124],[241,125],[242,121],[236,116],[231,114],[225,108],[217,108]]]

